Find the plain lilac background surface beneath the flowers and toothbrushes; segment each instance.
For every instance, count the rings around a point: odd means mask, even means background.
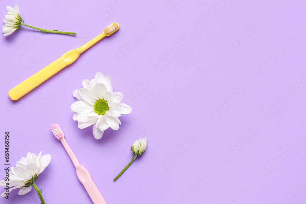
[[[118,0],[4,0],[3,17],[13,2],[27,24],[77,33],[43,34],[22,27],[0,38],[0,130],[2,135],[9,131],[12,166],[25,156],[23,150],[52,155],[36,182],[46,203],[92,203],[49,130],[53,123],[61,126],[109,204],[305,203],[306,86],[300,86],[306,77],[305,1],[173,0],[169,7],[170,0],[122,0],[118,7]],[[105,16],[114,4],[118,8]],[[18,83],[115,21],[119,31],[75,63],[21,100],[8,97]],[[140,38],[139,32],[146,33]],[[133,39],[136,44],[119,57]],[[174,57],[165,60],[172,52]],[[221,60],[224,52],[230,54]],[[273,56],[273,63],[260,71]],[[167,64],[158,69],[161,61]],[[120,117],[118,131],[108,129],[95,140],[91,127],[77,128],[70,105],[76,101],[72,92],[98,71],[112,77],[114,91],[125,94],[133,110]],[[282,106],[273,111],[277,104]],[[244,140],[250,132],[252,137]],[[147,150],[113,182],[142,135],[148,138]],[[4,136],[0,141],[3,178]],[[202,178],[207,179],[203,185]],[[40,203],[34,190],[17,193],[1,203]]]

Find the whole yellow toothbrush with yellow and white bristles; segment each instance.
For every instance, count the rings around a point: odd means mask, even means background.
[[[87,50],[89,47],[97,43],[105,36],[109,36],[114,32],[118,31],[118,29],[119,29],[118,23],[110,24],[104,29],[103,33],[101,33],[100,35],[98,35],[88,43],[74,50],[69,50],[68,52],[63,54],[62,57],[58,58],[50,65],[47,65],[45,68],[41,69],[34,75],[30,76],[28,79],[18,84],[16,87],[9,90],[9,98],[16,101],[22,96],[26,95],[29,91],[37,87],[39,84],[49,79],[51,76],[62,70],[67,65],[70,65],[74,61],[76,61],[76,59],[80,56],[80,54],[83,53],[85,50]]]

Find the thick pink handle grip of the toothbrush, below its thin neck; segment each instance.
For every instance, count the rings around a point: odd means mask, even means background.
[[[107,204],[95,182],[92,180],[90,173],[84,166],[76,166],[76,175],[94,204]]]

